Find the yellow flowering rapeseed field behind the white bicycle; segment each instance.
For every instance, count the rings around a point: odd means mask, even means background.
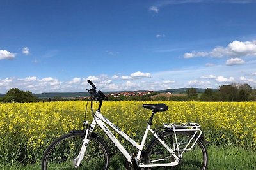
[[[155,115],[154,127],[163,122],[198,122],[210,145],[256,148],[255,102],[108,101],[102,113],[140,142],[151,115],[142,107],[144,103],[169,107]],[[83,128],[85,106],[85,101],[0,103],[0,161],[40,161],[54,138]],[[89,108],[86,119],[92,121]]]

